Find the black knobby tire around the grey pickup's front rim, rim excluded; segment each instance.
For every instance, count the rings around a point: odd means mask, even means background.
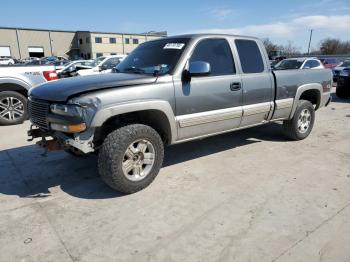
[[[155,160],[150,173],[142,180],[131,181],[123,173],[122,161],[128,146],[137,139],[147,139],[155,149]],[[122,193],[135,193],[152,183],[163,164],[164,144],[160,135],[150,126],[131,124],[111,132],[104,140],[98,155],[98,171],[102,180]]]

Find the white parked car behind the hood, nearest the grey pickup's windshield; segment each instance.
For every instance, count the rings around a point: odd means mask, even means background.
[[[86,75],[96,75],[103,73],[112,72],[112,68],[117,66],[126,55],[111,55],[106,56],[104,59],[101,59],[99,63],[95,63],[95,66],[91,69],[79,70],[78,75],[86,76]]]

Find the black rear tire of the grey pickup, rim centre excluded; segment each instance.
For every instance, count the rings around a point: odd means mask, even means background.
[[[308,109],[311,113],[311,121],[306,132],[302,133],[298,129],[298,119],[301,112],[304,109]],[[290,120],[283,121],[284,134],[292,140],[302,140],[305,139],[311,132],[315,122],[315,109],[311,102],[307,100],[300,100],[298,106],[295,110],[294,116]]]

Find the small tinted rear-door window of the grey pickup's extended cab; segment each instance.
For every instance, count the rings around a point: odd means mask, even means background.
[[[242,70],[245,74],[261,73],[264,71],[264,62],[258,45],[252,40],[237,39],[235,41]]]

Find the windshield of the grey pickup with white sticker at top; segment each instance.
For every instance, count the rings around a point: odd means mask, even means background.
[[[117,67],[118,73],[171,74],[189,38],[166,38],[137,47]]]

